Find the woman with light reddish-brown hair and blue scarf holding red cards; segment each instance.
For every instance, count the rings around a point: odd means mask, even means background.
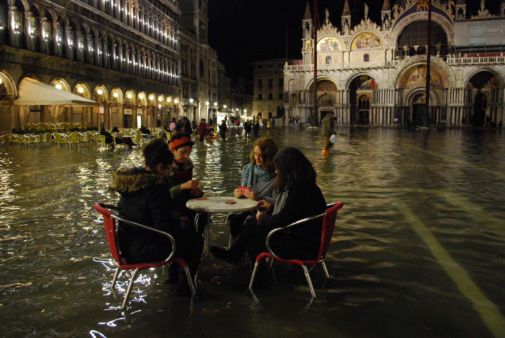
[[[235,189],[235,197],[246,197],[251,200],[266,200],[274,203],[277,193],[274,190],[275,174],[274,156],[279,147],[270,137],[260,137],[252,146],[250,163],[242,169],[242,186],[250,188],[250,191]],[[250,211],[230,214],[226,224],[230,226],[231,237],[236,237],[241,229],[241,224],[249,216],[254,216]]]

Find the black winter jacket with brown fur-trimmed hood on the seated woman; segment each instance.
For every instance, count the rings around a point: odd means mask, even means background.
[[[176,237],[180,220],[172,215],[170,178],[143,168],[119,170],[113,175],[109,189],[121,197],[119,214],[134,222],[159,229]],[[119,222],[119,249],[128,263],[167,258],[160,248],[171,248],[170,240],[157,233]]]

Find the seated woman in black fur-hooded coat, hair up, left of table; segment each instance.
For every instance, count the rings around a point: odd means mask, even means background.
[[[179,217],[171,212],[172,199],[167,191],[173,184],[169,175],[174,155],[162,138],[150,141],[144,147],[142,155],[145,158],[145,168],[121,169],[113,175],[109,184],[110,190],[121,195],[119,214],[172,235],[177,244],[175,256],[186,260],[190,275],[194,278],[204,240],[190,230],[192,227],[181,228]],[[165,236],[121,221],[118,242],[119,249],[129,264],[163,260],[172,251],[172,244]],[[169,280],[174,279],[174,276],[170,277]],[[177,280],[177,275],[175,277]],[[179,285],[174,295],[190,296],[191,291],[183,269],[178,272],[178,279]]]

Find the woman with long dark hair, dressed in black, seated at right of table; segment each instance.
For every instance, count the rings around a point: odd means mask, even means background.
[[[211,253],[229,263],[236,263],[247,251],[254,262],[256,256],[266,250],[268,233],[276,228],[326,209],[321,189],[316,185],[316,171],[312,163],[294,147],[279,151],[274,157],[277,180],[274,203],[261,200],[255,218],[249,218],[229,250],[212,247]],[[271,248],[282,259],[298,259],[317,256],[321,245],[322,219],[302,223],[289,231],[280,232],[271,240]]]

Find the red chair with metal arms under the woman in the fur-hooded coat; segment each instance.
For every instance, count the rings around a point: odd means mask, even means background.
[[[112,211],[109,209],[117,210],[117,207],[113,205],[108,205],[104,203],[95,203],[94,208],[96,209],[96,211],[104,215],[105,233],[107,235],[107,241],[109,242],[109,248],[111,249],[112,257],[114,260],[114,266],[117,267],[116,273],[114,274],[114,279],[112,280],[111,290],[114,290],[114,285],[116,284],[116,280],[118,278],[120,270],[134,270],[130,278],[130,283],[128,284],[128,289],[126,290],[123,305],[121,305],[121,311],[123,311],[126,308],[126,304],[128,303],[128,298],[130,297],[130,293],[133,288],[133,283],[135,281],[135,278],[137,277],[138,272],[140,270],[149,269],[151,267],[163,266],[167,263],[175,262],[179,264],[182,268],[184,268],[184,271],[186,272],[186,277],[189,281],[189,287],[191,288],[191,294],[193,295],[195,294],[193,281],[191,280],[191,275],[189,274],[189,268],[187,266],[186,261],[182,258],[172,257],[174,255],[176,246],[175,246],[175,240],[170,234],[160,231],[158,229],[153,229],[147,226],[143,226],[142,224],[129,221],[127,219],[122,218],[121,216],[112,213]],[[170,253],[170,256],[168,256],[167,259],[165,260],[160,260],[157,262],[128,264],[126,259],[122,257],[121,253],[119,252],[118,238],[116,235],[116,219],[131,224],[132,226],[140,227],[167,236],[170,242],[172,242],[172,252]]]

